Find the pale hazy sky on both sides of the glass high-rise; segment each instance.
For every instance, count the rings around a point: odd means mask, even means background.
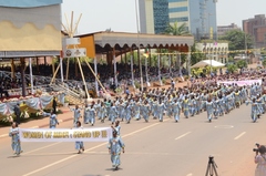
[[[236,23],[242,28],[242,20],[266,14],[266,0],[218,0],[216,8],[217,25]],[[63,24],[66,24],[65,15],[70,21],[72,11],[74,23],[82,14],[78,34],[110,28],[115,32],[137,31],[135,0],[63,0]]]

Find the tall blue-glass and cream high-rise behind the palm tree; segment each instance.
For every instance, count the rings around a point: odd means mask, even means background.
[[[217,0],[139,0],[141,33],[163,33],[185,23],[196,40],[217,39]]]

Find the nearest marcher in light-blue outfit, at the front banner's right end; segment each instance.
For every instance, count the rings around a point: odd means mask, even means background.
[[[117,135],[117,132],[113,131],[113,136],[109,139],[109,153],[111,154],[112,166],[115,170],[119,169],[119,166],[121,164],[120,155],[121,152],[125,152],[124,147],[125,145],[122,142],[121,137]]]

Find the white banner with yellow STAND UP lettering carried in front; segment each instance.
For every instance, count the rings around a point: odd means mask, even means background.
[[[111,137],[111,127],[20,128],[21,142],[108,142]]]

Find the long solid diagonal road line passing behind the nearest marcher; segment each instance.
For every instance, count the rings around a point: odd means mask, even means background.
[[[124,135],[123,137],[131,136],[131,135],[133,135],[133,134],[135,134],[135,133],[145,131],[145,130],[151,128],[151,127],[153,127],[153,126],[155,126],[155,125],[158,125],[158,124],[162,124],[162,123],[155,123],[155,124],[149,125],[149,126],[143,127],[143,128],[139,130],[139,131],[129,133],[129,134]],[[99,148],[99,147],[104,146],[104,145],[106,146],[108,143],[103,143],[103,144],[96,145],[96,146],[94,146],[94,147],[91,147],[91,148],[89,148],[89,149],[85,149],[85,152],[90,152],[90,151],[92,151],[92,149]],[[41,167],[41,168],[38,168],[38,169],[33,170],[33,172],[30,172],[30,173],[28,173],[28,174],[24,174],[23,176],[33,175],[33,174],[35,174],[35,173],[39,173],[39,172],[41,172],[41,170],[44,170],[44,169],[47,169],[47,168],[49,168],[49,167],[52,167],[52,166],[54,166],[54,165],[58,165],[58,164],[60,164],[60,163],[63,163],[63,162],[69,161],[69,159],[71,159],[71,158],[74,158],[74,157],[76,157],[76,156],[80,156],[80,155],[72,155],[72,156],[65,157],[65,158],[60,159],[60,161],[58,161],[58,162],[51,163],[51,164],[49,164],[49,165],[47,165],[47,166],[44,166],[44,167]]]

